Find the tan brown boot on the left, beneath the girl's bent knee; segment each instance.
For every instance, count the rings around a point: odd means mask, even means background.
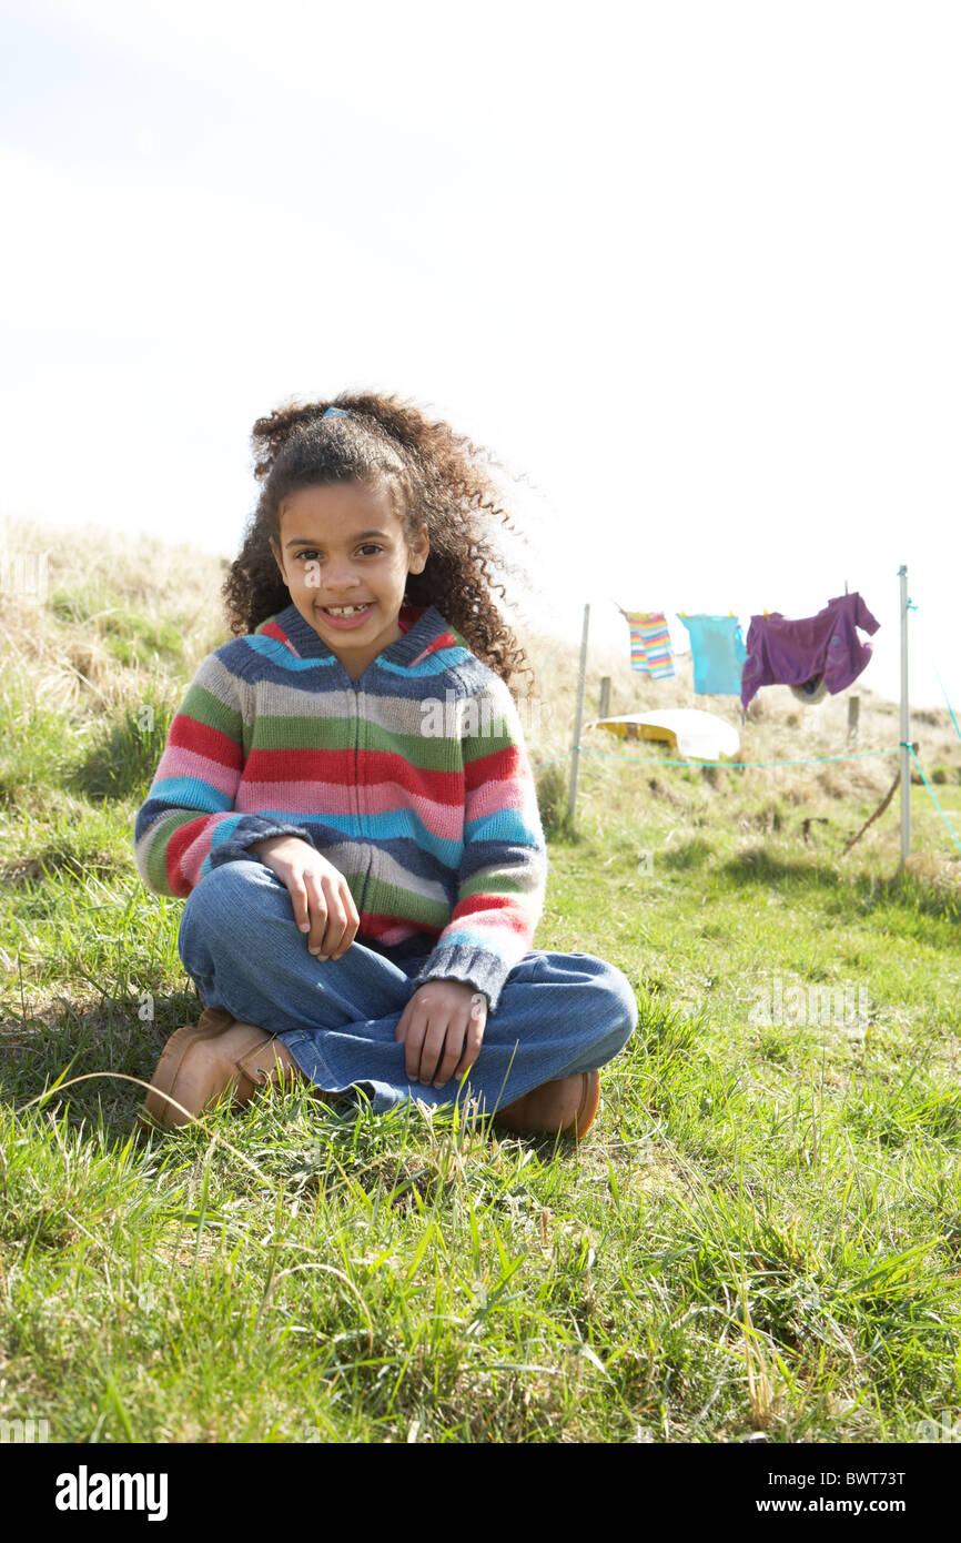
[[[276,1085],[281,1069],[301,1075],[282,1040],[256,1023],[239,1023],[225,1008],[205,1008],[197,1023],[176,1029],[164,1046],[139,1129],[190,1125],[228,1089],[244,1106],[258,1088]]]

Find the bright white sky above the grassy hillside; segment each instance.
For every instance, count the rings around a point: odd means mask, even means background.
[[[961,708],[961,11],[0,5],[0,514],[228,557],[250,427],[396,392],[489,446],[515,614],[858,589]],[[646,688],[649,693],[649,687]],[[693,705],[696,705],[693,702]],[[961,711],[959,711],[961,716]]]

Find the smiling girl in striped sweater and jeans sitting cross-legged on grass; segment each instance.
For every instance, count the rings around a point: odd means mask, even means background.
[[[524,656],[492,600],[497,488],[395,397],[287,406],[253,443],[233,636],[134,827],[143,883],[187,898],[205,1008],[147,1114],[173,1126],[295,1077],[582,1137],[637,1006],[602,960],[531,952],[546,849],[507,688]]]

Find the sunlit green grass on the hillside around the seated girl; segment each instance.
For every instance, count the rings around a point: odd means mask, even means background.
[[[219,576],[197,559],[184,594],[160,546],[153,582],[89,552],[51,560],[40,613],[0,609],[2,1418],[119,1443],[864,1443],[956,1418],[958,863],[922,787],[898,875],[896,801],[839,855],[887,759],[585,756],[574,824],[568,764],[541,773],[537,943],[611,960],[640,1011],[580,1148],[296,1089],[136,1145],[126,1079],[197,1003],[133,816],[222,640]],[[535,762],[572,719],[552,663]],[[614,713],[640,694],[622,665],[589,682],[614,677]],[[785,696],[744,759],[844,753],[842,702],[790,725]],[[887,707],[864,693],[864,748],[896,741]],[[961,745],[929,716],[961,829]]]

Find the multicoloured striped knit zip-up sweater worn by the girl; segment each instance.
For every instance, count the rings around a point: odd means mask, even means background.
[[[136,816],[137,872],[187,896],[302,836],[346,876],[358,941],[423,938],[415,981],[467,981],[494,1012],[546,884],[520,716],[435,606],[398,625],[358,680],[295,605],[208,654]]]

